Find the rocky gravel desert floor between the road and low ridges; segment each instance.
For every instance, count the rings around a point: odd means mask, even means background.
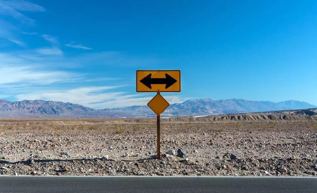
[[[68,121],[1,119],[0,174],[317,176],[316,122]]]

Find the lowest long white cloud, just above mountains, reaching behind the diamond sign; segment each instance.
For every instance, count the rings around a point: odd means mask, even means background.
[[[80,87],[70,90],[46,90],[45,92],[33,92],[16,95],[20,100],[52,100],[81,104],[94,109],[121,108],[133,105],[146,105],[153,96],[148,94],[127,95],[126,92],[107,92],[105,90],[115,89],[121,86]],[[100,92],[102,91],[102,92]],[[165,96],[169,103],[184,102],[180,96]]]

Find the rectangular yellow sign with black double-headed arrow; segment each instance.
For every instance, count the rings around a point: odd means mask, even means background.
[[[180,92],[180,70],[137,70],[137,92]]]

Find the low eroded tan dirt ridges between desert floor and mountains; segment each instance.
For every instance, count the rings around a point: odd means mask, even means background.
[[[317,122],[317,115],[286,115],[286,114],[250,114],[250,115],[213,115],[205,117],[172,117],[162,118],[161,123],[230,123],[230,122]],[[156,123],[156,119],[0,119],[0,125],[113,125]]]

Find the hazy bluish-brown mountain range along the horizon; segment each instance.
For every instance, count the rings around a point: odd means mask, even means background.
[[[238,114],[249,112],[309,109],[317,106],[301,101],[249,101],[244,99],[196,99],[171,104],[162,117]],[[152,118],[156,115],[148,106],[130,106],[116,109],[92,109],[79,104],[44,100],[10,102],[0,100],[0,117],[3,118]]]

